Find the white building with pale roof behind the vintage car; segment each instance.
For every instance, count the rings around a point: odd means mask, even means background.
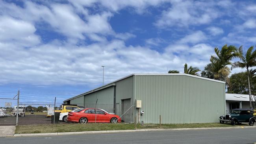
[[[226,111],[250,108],[249,94],[226,94]]]

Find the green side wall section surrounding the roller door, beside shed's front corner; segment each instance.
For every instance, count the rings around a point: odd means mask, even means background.
[[[116,114],[122,115],[122,100],[131,98],[134,103],[134,76],[116,82]],[[132,121],[134,108],[131,109]]]

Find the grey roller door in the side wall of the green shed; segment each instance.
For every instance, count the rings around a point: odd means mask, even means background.
[[[122,120],[124,120],[124,122],[126,122],[126,123],[130,123],[132,121],[132,109],[129,109],[130,107],[131,107],[131,99],[130,98],[122,100],[122,113],[124,114],[122,116]]]

